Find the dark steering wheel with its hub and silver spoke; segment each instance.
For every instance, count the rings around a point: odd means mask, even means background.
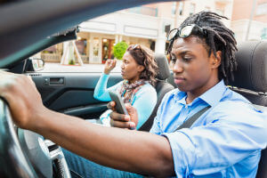
[[[71,177],[61,147],[14,125],[8,104],[2,98],[0,155],[0,174],[6,177]]]

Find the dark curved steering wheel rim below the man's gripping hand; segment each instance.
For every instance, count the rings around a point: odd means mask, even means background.
[[[0,113],[0,163],[4,168],[2,171],[7,177],[37,177],[21,150],[8,104],[3,98],[0,98]]]

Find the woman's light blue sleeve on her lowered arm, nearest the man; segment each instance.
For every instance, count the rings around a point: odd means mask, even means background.
[[[143,85],[142,88],[135,94],[133,107],[138,113],[137,130],[145,123],[145,121],[148,120],[150,114],[156,106],[156,103],[157,92],[151,85]]]

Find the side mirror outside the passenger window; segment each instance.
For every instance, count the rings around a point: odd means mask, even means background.
[[[40,71],[42,69],[44,69],[44,60],[32,58],[26,61],[24,72]]]

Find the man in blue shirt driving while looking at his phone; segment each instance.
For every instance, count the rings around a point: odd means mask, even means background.
[[[266,115],[224,85],[236,68],[236,41],[221,18],[199,12],[168,36],[179,90],[166,93],[150,133],[93,125],[46,109],[28,77],[2,72],[0,95],[9,102],[17,125],[103,165],[96,172],[107,170],[108,176],[119,175],[104,166],[136,173],[123,172],[121,177],[255,177],[266,147]],[[191,128],[177,130],[206,107]],[[129,116],[111,113],[112,125],[134,126],[136,110],[126,109]],[[78,174],[90,172],[90,161],[65,153],[69,162],[77,161]]]

